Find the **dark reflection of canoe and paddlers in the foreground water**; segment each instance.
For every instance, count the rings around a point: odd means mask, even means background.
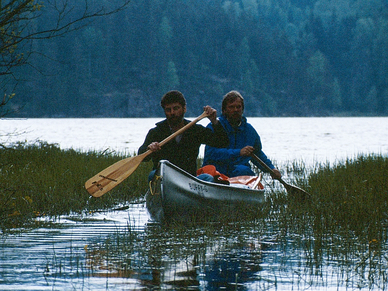
[[[261,243],[234,241],[215,225],[146,229],[146,260],[151,270],[143,281],[162,289],[239,289],[260,271]]]

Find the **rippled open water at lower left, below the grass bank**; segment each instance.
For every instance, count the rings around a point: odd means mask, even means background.
[[[125,230],[131,221],[144,231],[145,208],[66,217],[55,224],[42,221],[39,228],[1,237],[0,290],[107,290],[106,279],[84,278],[92,272],[87,250]]]

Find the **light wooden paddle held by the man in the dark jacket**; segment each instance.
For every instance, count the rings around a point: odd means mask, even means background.
[[[173,138],[175,138],[177,135],[181,134],[186,129],[193,126],[195,123],[200,121],[201,119],[208,116],[208,113],[204,112],[197,118],[195,118],[192,122],[186,124],[184,127],[179,129],[178,131],[171,134],[169,137],[164,139],[162,142],[159,143],[160,146],[163,146]],[[93,178],[90,178],[85,183],[85,189],[89,194],[91,194],[94,197],[100,197],[103,194],[107,193],[109,190],[111,190],[113,187],[120,184],[123,180],[128,178],[140,165],[140,163],[151,154],[151,150],[147,150],[145,153],[130,157],[124,160],[121,160],[119,162],[114,163],[113,165],[109,166],[105,170],[99,172],[96,176]]]

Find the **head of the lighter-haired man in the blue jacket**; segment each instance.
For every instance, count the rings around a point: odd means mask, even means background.
[[[231,125],[239,125],[244,112],[244,98],[237,91],[226,93],[222,99],[222,114]]]

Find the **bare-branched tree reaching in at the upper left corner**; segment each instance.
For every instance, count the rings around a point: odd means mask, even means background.
[[[42,73],[42,67],[49,67],[47,62],[35,65],[42,56],[49,60],[45,55],[51,51],[39,45],[49,44],[44,42],[48,40],[53,44],[56,38],[86,28],[95,18],[122,11],[129,0],[97,5],[92,0],[92,4],[90,8],[88,0],[0,0],[0,117],[20,111],[18,102],[11,99],[32,69]],[[23,88],[18,91],[22,97],[25,95]],[[26,108],[26,112],[33,110]]]

